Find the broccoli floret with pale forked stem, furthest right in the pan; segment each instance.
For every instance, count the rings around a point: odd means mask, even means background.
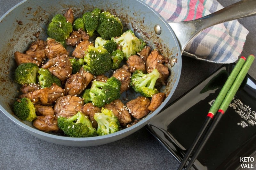
[[[152,97],[153,94],[158,93],[155,88],[156,80],[159,78],[160,73],[154,69],[151,73],[144,74],[140,70],[135,70],[131,78],[131,86],[135,92],[139,92],[145,97]]]

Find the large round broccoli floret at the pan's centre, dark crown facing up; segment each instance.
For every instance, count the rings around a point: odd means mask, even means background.
[[[99,46],[97,48],[93,46],[88,47],[88,52],[84,55],[83,67],[84,70],[89,71],[94,76],[105,74],[112,67],[111,56],[108,51]]]

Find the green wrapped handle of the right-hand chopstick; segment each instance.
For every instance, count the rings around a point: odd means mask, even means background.
[[[250,69],[254,58],[255,58],[254,55],[249,55],[248,56],[247,61],[244,63],[243,68],[241,69],[241,71],[237,75],[237,78],[236,78],[235,82],[230,87],[230,90],[228,91],[228,94],[226,95],[225,99],[223,100],[223,103],[220,105],[220,110],[223,110],[224,112],[226,112],[226,110],[228,109],[229,104],[231,103],[231,101],[235,97],[238,88],[242,84],[248,70]]]

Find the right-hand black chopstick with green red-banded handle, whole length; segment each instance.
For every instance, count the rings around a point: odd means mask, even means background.
[[[230,87],[227,95],[225,96],[225,99],[223,100],[223,102],[221,103],[221,105],[219,107],[218,113],[216,114],[212,124],[209,126],[207,132],[205,133],[205,135],[204,135],[204,137],[202,139],[202,141],[198,145],[198,148],[194,152],[194,155],[192,156],[191,160],[189,161],[188,166],[187,166],[186,169],[190,169],[191,166],[194,164],[197,156],[199,155],[199,153],[203,149],[204,145],[206,144],[207,140],[211,136],[213,130],[215,129],[215,127],[219,123],[222,115],[224,115],[224,113],[228,109],[229,104],[231,103],[231,101],[233,100],[234,96],[236,95],[236,92],[237,92],[238,88],[242,84],[242,82],[243,82],[243,80],[244,80],[244,78],[245,78],[245,76],[246,76],[250,66],[252,65],[252,62],[253,62],[254,58],[255,58],[254,55],[249,55],[248,56],[247,61],[244,63],[244,66],[242,67],[242,69],[240,70],[239,74],[237,75],[236,80],[234,81],[233,85]]]

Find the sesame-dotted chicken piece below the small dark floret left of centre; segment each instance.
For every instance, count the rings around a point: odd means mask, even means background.
[[[91,82],[92,80],[90,80]],[[65,83],[65,95],[75,96],[84,91],[87,86],[86,79],[82,74],[72,74]]]

